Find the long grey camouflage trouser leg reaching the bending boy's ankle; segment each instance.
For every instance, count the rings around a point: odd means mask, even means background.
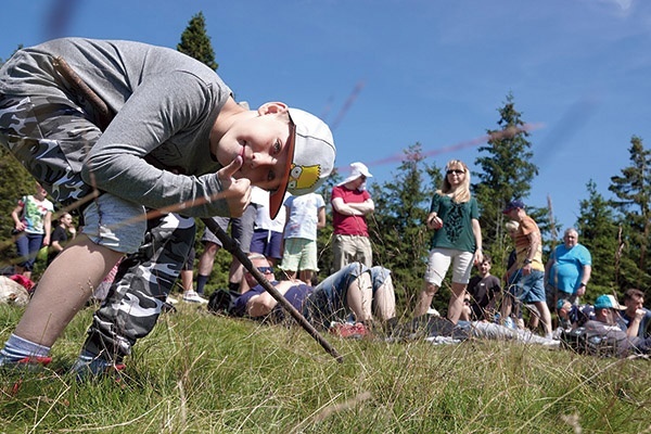
[[[148,221],[144,243],[119,265],[93,315],[84,350],[116,362],[156,324],[194,244],[194,219],[168,214]]]

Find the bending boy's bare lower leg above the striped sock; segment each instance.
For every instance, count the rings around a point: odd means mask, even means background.
[[[122,256],[86,235],[75,238],[46,269],[14,334],[52,346]]]

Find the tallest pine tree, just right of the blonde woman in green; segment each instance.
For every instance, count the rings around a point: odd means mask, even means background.
[[[483,247],[497,265],[494,266],[496,271],[500,271],[501,264],[506,263],[510,243],[503,230],[506,218],[502,209],[513,199],[527,197],[531,182],[538,175],[538,168],[531,163],[529,133],[524,128],[522,114],[515,110],[511,93],[498,113],[500,129],[487,130],[490,138],[486,145],[478,148],[482,156],[475,159],[475,165],[482,170],[473,174],[478,179],[473,191],[480,204]],[[545,228],[539,210],[527,208],[527,213]]]

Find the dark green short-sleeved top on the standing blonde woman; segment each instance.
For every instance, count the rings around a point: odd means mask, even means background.
[[[443,228],[434,231],[431,248],[456,248],[474,253],[476,243],[472,231],[472,219],[480,218],[477,201],[471,197],[464,203],[456,203],[447,195],[434,193],[430,213],[443,220]]]

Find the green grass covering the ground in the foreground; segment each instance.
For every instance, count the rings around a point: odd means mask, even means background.
[[[21,311],[0,307],[0,337]],[[66,373],[92,309],[53,348],[51,370],[2,373],[7,433],[642,433],[649,360],[472,341],[434,346],[326,335],[337,363],[298,327],[260,326],[181,305],[127,360],[127,379]]]

